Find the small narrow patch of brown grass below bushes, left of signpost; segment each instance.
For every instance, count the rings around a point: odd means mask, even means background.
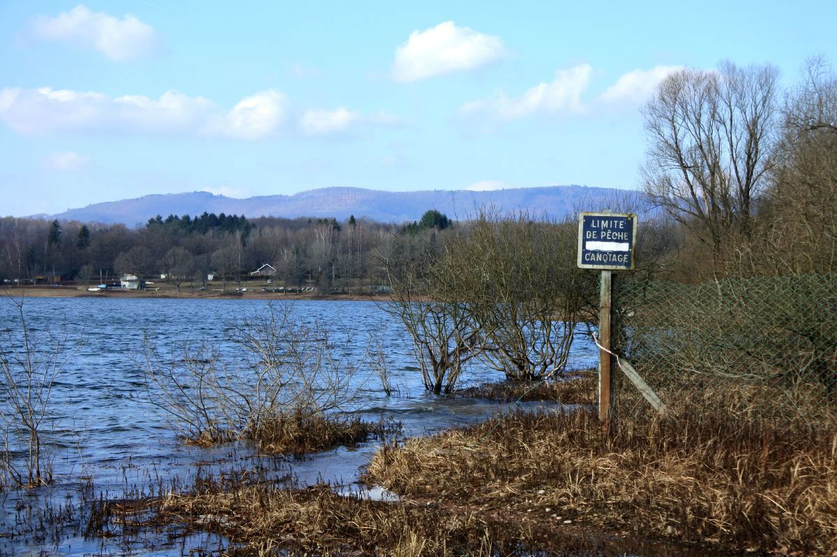
[[[501,402],[555,401],[563,404],[594,404],[598,376],[595,370],[567,373],[556,381],[500,381],[469,387],[455,393],[467,398]]]

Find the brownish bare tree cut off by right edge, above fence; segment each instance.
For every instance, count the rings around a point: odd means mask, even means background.
[[[727,261],[733,275],[833,273],[837,263],[837,76],[810,59],[788,90],[756,234]]]

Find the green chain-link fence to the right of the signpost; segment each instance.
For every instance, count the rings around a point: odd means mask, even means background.
[[[837,422],[837,275],[618,278],[614,349],[670,407]],[[652,411],[617,374],[620,416]]]

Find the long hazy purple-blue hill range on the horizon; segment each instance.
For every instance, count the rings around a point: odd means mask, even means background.
[[[325,187],[292,196],[259,196],[246,199],[209,192],[154,194],[116,202],[94,203],[50,216],[80,222],[144,224],[157,215],[191,216],[206,212],[244,214],[246,217],[336,217],[354,215],[378,222],[411,222],[428,209],[451,218],[464,219],[478,207],[492,206],[502,212],[525,209],[538,215],[560,217],[576,208],[592,211],[612,207],[626,193],[611,188],[585,186],[519,187],[490,192],[427,190],[382,192],[359,187]],[[609,204],[608,204],[609,202]]]

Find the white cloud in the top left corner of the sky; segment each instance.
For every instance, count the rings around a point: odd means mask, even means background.
[[[159,44],[154,28],[130,13],[118,19],[81,4],[54,18],[35,18],[33,28],[40,38],[96,49],[117,62],[151,54]]]

